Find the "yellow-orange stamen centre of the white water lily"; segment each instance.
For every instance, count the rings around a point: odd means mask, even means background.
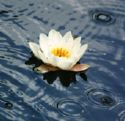
[[[69,58],[70,57],[70,52],[68,49],[66,48],[53,48],[51,50],[51,53],[54,55],[54,56],[57,56],[57,57],[65,57],[65,58]]]

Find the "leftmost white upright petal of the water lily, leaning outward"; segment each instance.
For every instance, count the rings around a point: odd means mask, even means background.
[[[34,56],[37,57],[38,59],[40,59],[39,53],[38,53],[38,51],[40,50],[39,45],[37,45],[36,43],[33,43],[33,42],[29,42],[29,46],[30,46],[30,49],[32,50]]]

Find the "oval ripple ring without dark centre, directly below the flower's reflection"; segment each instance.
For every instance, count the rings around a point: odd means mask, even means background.
[[[66,117],[83,117],[85,113],[84,107],[79,101],[72,99],[63,99],[57,103],[57,109],[59,113]]]

